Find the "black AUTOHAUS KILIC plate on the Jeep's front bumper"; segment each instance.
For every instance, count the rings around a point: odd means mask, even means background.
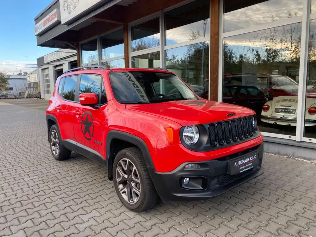
[[[228,174],[239,174],[259,164],[259,153],[228,162]]]

